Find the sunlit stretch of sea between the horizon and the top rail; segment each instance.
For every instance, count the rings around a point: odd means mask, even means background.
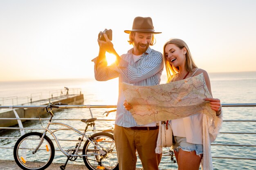
[[[213,97],[221,99],[223,103],[256,102],[256,97],[254,97],[256,96],[256,71],[209,73],[209,77]],[[166,75],[163,74],[160,84],[165,84],[166,80]],[[65,91],[64,87],[81,88],[81,93],[85,95],[85,104],[117,103],[118,78],[106,82],[99,82],[94,78],[74,78],[0,82],[0,104],[2,104],[1,98],[7,97],[33,98],[33,96],[40,95],[42,99],[47,99],[51,97],[51,92]],[[229,97],[224,95],[225,93]],[[247,94],[249,97],[246,97]],[[233,95],[234,97],[231,97]]]

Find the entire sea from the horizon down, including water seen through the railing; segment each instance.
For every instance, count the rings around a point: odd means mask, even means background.
[[[211,91],[214,98],[221,100],[222,104],[256,104],[256,72],[231,72],[231,73],[209,73],[211,81]],[[166,83],[165,75],[162,75],[161,84]],[[11,81],[0,82],[0,104],[3,106],[26,103],[30,98],[41,99],[51,97],[55,91],[63,91],[65,88],[79,90],[84,95],[85,105],[116,105],[118,98],[118,79],[106,82],[98,82],[95,79],[48,79],[31,81]],[[24,104],[26,105],[26,104]],[[2,111],[3,109],[0,109]],[[94,117],[100,119],[115,119],[115,113],[110,113],[109,117],[103,113],[111,108],[94,108]],[[256,120],[256,107],[223,107],[224,120]],[[40,110],[38,114],[40,115]],[[42,116],[47,117],[47,115]],[[48,116],[49,117],[49,116]],[[88,108],[64,109],[55,113],[54,118],[90,118]],[[84,123],[80,121],[61,121],[66,124],[83,129]],[[36,121],[26,121],[24,127],[40,128],[45,126],[47,121],[42,121],[42,125]],[[114,121],[97,121],[97,129],[110,129],[114,127]],[[30,132],[32,130],[26,130]],[[227,159],[213,158],[213,166],[216,170],[256,170],[256,121],[224,121],[222,129],[213,144],[239,144],[245,146],[211,146],[213,157],[242,157],[249,159]],[[227,133],[239,132],[239,134]],[[76,138],[76,134],[59,133],[60,138]],[[19,137],[19,130],[1,130],[0,136]],[[77,136],[78,138],[78,136]],[[0,147],[13,147],[15,139],[0,139]],[[68,148],[70,142],[64,142],[64,148]],[[254,146],[248,146],[254,145]],[[75,144],[74,144],[75,146]],[[73,146],[73,147],[74,147]],[[55,149],[57,146],[55,146]],[[1,149],[0,159],[13,160],[12,149]],[[66,157],[61,153],[56,153],[54,162],[65,163]],[[168,160],[167,160],[168,161]],[[79,160],[75,163],[83,163]],[[141,168],[138,159],[137,167]],[[163,169],[163,168],[162,168]]]

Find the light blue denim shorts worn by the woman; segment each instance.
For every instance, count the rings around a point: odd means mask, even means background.
[[[182,149],[184,151],[195,151],[196,155],[203,154],[203,145],[201,144],[191,144],[186,142],[186,137],[178,137],[175,136],[174,140],[176,144],[173,144],[172,148],[176,152],[179,152],[179,149]]]

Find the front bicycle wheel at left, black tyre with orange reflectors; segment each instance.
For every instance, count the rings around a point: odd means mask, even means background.
[[[43,143],[33,154],[34,149],[38,146],[42,133],[29,132],[16,142],[13,149],[13,157],[17,165],[23,170],[44,170],[54,159],[54,145],[45,135]]]

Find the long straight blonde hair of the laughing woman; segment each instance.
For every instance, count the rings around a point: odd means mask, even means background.
[[[194,63],[194,61],[192,59],[192,55],[191,55],[191,53],[189,51],[188,45],[183,40],[180,40],[180,39],[170,39],[170,40],[168,40],[168,42],[166,42],[164,44],[164,53],[163,53],[163,60],[164,60],[165,69],[166,69],[167,78],[168,78],[167,79],[167,83],[171,82],[171,80],[174,77],[176,77],[176,75],[180,72],[179,71],[179,67],[174,67],[166,59],[165,47],[166,47],[167,44],[175,44],[179,49],[186,48],[186,54],[185,54],[185,57],[186,57],[185,69],[186,69],[186,71],[189,71],[190,73],[192,73],[194,68],[198,68],[195,65],[195,63]]]

